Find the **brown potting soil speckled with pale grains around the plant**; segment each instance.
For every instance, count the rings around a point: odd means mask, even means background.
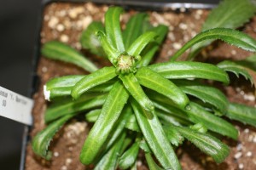
[[[43,27],[41,31],[41,42],[49,40],[60,40],[71,44],[74,48],[81,50],[79,35],[91,20],[102,20],[103,15],[108,9],[105,5],[95,5],[93,3],[50,3],[44,9]],[[186,12],[166,11],[163,13],[150,12],[149,20],[154,24],[165,24],[169,26],[169,33],[166,42],[162,46],[158,58],[155,62],[166,61],[184,42],[194,37],[201,30],[203,20],[209,13],[207,10],[193,9]],[[135,11],[129,11],[124,14],[122,20],[125,22]],[[256,37],[256,17],[251,20],[245,27],[241,28],[253,37]],[[209,59],[212,62],[220,61],[224,58],[241,59],[248,56],[249,53],[241,49],[231,47],[222,42],[216,42],[216,48],[210,54],[202,53],[201,59]],[[83,50],[96,65],[102,67],[109,65],[108,61],[92,56]],[[33,109],[34,126],[30,135],[33,137],[36,133],[44,128],[44,111],[48,105],[44,100],[43,86],[52,77],[61,77],[72,74],[87,74],[78,67],[68,65],[62,62],[50,59],[39,59],[38,76],[40,85],[38,92],[34,94],[35,106]],[[255,106],[253,88],[249,82],[243,78],[240,81],[232,83],[222,89],[229,96],[230,101]],[[183,169],[256,169],[256,129],[245,126],[241,123],[234,122],[239,129],[240,136],[238,141],[224,139],[224,142],[230,145],[230,156],[220,164],[214,163],[212,158],[201,153],[195,146],[186,142],[182,147],[177,149],[177,156]],[[90,169],[84,167],[79,162],[79,153],[86,133],[89,131],[90,124],[73,120],[61,128],[60,133],[55,136],[50,149],[53,150],[51,161],[44,161],[32,152],[30,141],[27,144],[26,170],[53,169],[53,170],[79,170]],[[144,164],[143,158],[137,163],[139,169],[148,169]]]

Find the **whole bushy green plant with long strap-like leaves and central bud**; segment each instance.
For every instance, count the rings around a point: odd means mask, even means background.
[[[170,62],[149,65],[168,28],[153,27],[147,14],[135,14],[122,31],[122,12],[119,7],[109,8],[105,25],[92,22],[80,39],[84,48],[107,58],[112,66],[98,69],[61,42],[44,44],[44,56],[79,65],[90,74],[57,77],[45,84],[45,99],[54,104],[45,113],[48,126],[32,140],[34,152],[49,160],[49,142],[58,129],[73,116],[85,113],[85,119],[94,124],[80,161],[94,164],[95,169],[136,169],[139,150],[145,153],[150,169],[181,169],[174,148],[184,139],[214,161],[224,161],[229,147],[212,132],[237,139],[236,128],[223,117],[256,126],[256,111],[230,103],[218,88],[202,80],[228,84],[226,71],[231,71],[254,83],[255,65],[247,68],[232,61],[212,65],[177,59],[208,39],[221,39],[252,52],[256,52],[256,41],[230,28],[211,28],[187,42]]]

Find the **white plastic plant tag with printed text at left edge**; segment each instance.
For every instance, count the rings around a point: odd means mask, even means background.
[[[0,86],[0,116],[32,125],[33,100]]]

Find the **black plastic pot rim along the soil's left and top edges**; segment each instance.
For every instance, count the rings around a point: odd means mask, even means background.
[[[42,27],[43,21],[43,12],[44,7],[47,6],[49,3],[56,3],[56,2],[65,2],[65,3],[105,3],[109,5],[119,5],[123,8],[135,8],[137,10],[142,9],[151,9],[157,11],[164,11],[164,10],[180,10],[186,8],[214,8],[219,0],[194,0],[193,3],[189,2],[189,0],[176,0],[175,2],[170,3],[169,0],[43,0],[41,3],[40,11],[38,12],[38,29],[37,29],[37,39],[34,45],[34,56],[32,62],[32,84],[31,84],[31,92],[30,96],[37,91],[38,89],[38,75],[37,75],[37,68],[38,68],[38,60],[40,58],[40,31]],[[32,127],[26,126],[24,128],[23,133],[23,142],[22,142],[22,150],[21,150],[21,158],[20,158],[20,170],[25,169],[25,161],[26,161],[26,145],[28,141],[30,141],[29,132]]]

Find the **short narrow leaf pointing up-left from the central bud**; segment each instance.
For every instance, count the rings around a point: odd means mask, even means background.
[[[96,35],[102,43],[102,48],[104,49],[105,54],[107,54],[109,61],[114,65],[114,59],[117,59],[121,52],[119,52],[112,46],[111,43],[108,42],[108,38],[104,32],[98,31]]]

